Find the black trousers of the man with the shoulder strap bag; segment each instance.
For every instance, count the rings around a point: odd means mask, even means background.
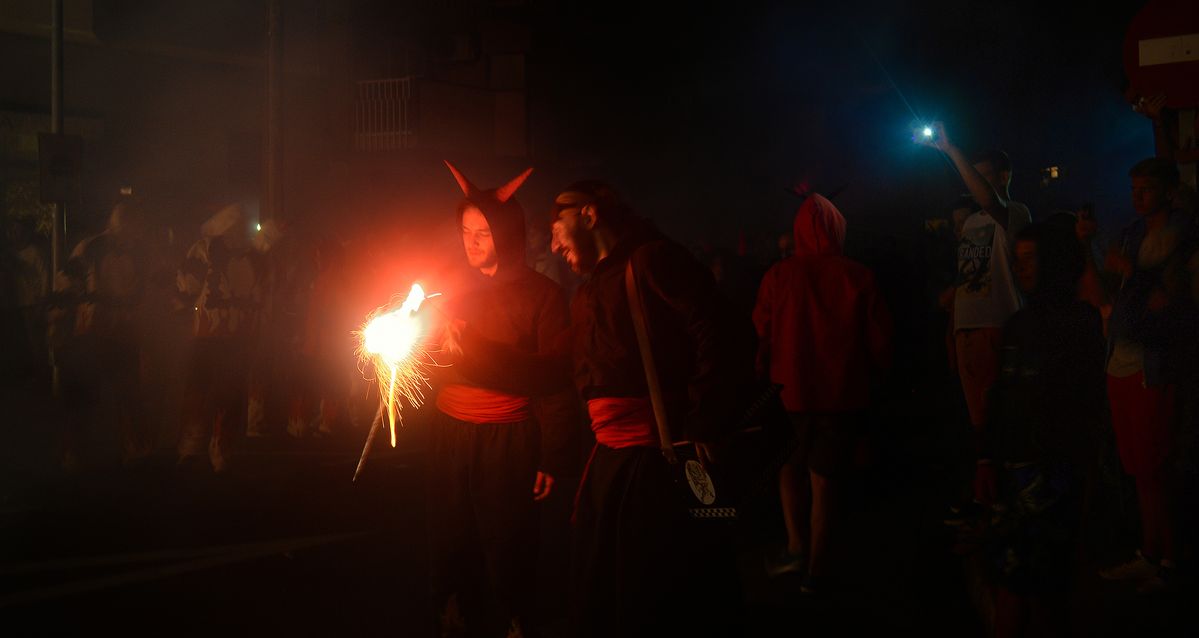
[[[730,534],[691,520],[674,478],[657,449],[596,446],[574,514],[579,636],[737,634]]]

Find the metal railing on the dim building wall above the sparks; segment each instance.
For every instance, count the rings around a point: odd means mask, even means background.
[[[354,150],[396,151],[416,145],[412,78],[363,80],[354,100]]]

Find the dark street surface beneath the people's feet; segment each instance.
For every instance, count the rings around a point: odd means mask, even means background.
[[[170,449],[127,469],[112,447],[96,467],[64,475],[46,458],[44,407],[20,398],[5,432],[0,494],[0,606],[12,636],[432,634],[418,426],[402,431],[394,452],[368,461],[359,483],[350,482],[361,451],[354,434],[364,433],[283,441],[277,451],[267,445],[276,441],[252,440],[222,476],[176,468]],[[983,636],[974,572],[952,552],[954,535],[939,518],[939,455],[898,445],[923,447],[886,441],[873,471],[858,478],[856,538],[846,543],[864,550],[849,556],[836,596],[811,600],[797,578],[767,579],[763,561],[778,534],[761,520],[746,526],[743,636],[794,636],[796,624],[811,636]],[[887,469],[897,467],[905,470]],[[880,475],[900,478],[876,482]],[[565,498],[547,508],[550,534],[555,524],[565,529]],[[1117,514],[1107,511],[1102,520]],[[777,517],[777,508],[760,516]],[[556,541],[541,566],[540,600],[561,624],[565,548]],[[1195,627],[1192,594],[1138,602],[1092,577],[1078,603],[1086,622],[1079,633]]]

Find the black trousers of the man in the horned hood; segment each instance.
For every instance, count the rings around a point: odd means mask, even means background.
[[[468,423],[438,413],[428,473],[433,600],[465,601],[472,634],[529,622],[537,573],[535,421]],[[474,603],[474,604],[471,604]]]

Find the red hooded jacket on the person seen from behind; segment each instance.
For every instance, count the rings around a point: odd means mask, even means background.
[[[795,255],[758,289],[759,372],[783,385],[789,411],[863,409],[890,366],[891,315],[869,269],[842,254],[844,240],[840,211],[812,194],[795,215]]]

